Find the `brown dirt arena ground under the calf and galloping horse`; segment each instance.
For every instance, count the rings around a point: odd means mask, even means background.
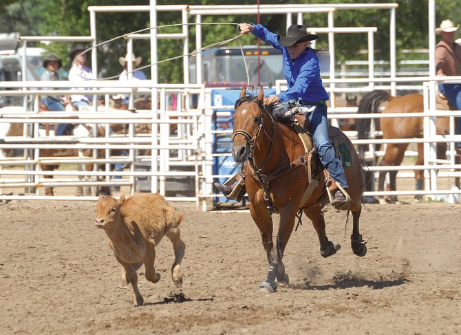
[[[93,202],[0,204],[0,333],[461,333],[461,204],[367,205],[363,258],[352,253],[344,212],[326,208],[328,236],[343,247],[328,259],[303,219],[284,258],[290,287],[274,294],[257,290],[268,265],[249,213],[177,207],[186,213],[183,288],[171,281],[164,239],[162,279],[138,271],[146,305],[133,307]]]

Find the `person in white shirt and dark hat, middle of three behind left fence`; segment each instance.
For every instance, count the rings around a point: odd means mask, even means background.
[[[69,52],[69,57],[72,60],[72,67],[69,71],[69,80],[75,82],[81,82],[85,80],[91,80],[93,78],[92,69],[85,66],[87,61],[87,53],[82,53],[86,48],[78,44],[74,49]],[[82,89],[84,90],[84,89]],[[74,107],[85,108],[93,100],[93,96],[84,94],[73,94],[70,97],[72,105]]]

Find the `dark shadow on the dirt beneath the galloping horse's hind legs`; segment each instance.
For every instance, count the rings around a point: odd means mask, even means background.
[[[409,279],[405,277],[395,279],[385,279],[381,277],[378,280],[361,279],[354,275],[343,274],[341,276],[336,275],[334,277],[334,283],[325,285],[316,285],[305,281],[302,284],[290,284],[290,288],[294,290],[330,290],[330,289],[347,289],[347,288],[363,288],[368,286],[373,290],[381,290],[383,288],[391,288],[392,286],[398,286],[409,283]]]

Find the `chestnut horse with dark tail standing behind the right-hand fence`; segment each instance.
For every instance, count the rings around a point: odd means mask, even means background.
[[[376,89],[365,94],[358,105],[357,113],[401,113],[399,118],[380,118],[376,119],[358,119],[356,121],[356,130],[358,139],[369,138],[370,126],[372,120],[376,130],[383,131],[383,138],[421,138],[423,118],[409,118],[407,113],[422,113],[424,111],[423,96],[421,94],[406,94],[405,96],[391,96],[387,91]],[[384,105],[387,103],[387,105]],[[383,111],[381,108],[384,107]],[[438,109],[442,109],[439,108]],[[447,117],[436,119],[437,133],[439,135],[449,132],[449,119]],[[386,145],[383,159],[379,166],[398,166],[402,163],[409,143],[388,143]],[[424,164],[423,143],[418,143],[418,159],[415,165]],[[359,153],[363,155],[366,145],[360,145]],[[438,158],[444,158],[446,144],[440,143],[437,146]],[[380,171],[378,179],[378,191],[384,191],[384,182],[386,174],[389,173],[389,191],[396,191],[396,175],[398,171]],[[415,170],[416,191],[422,191],[422,178],[424,171]],[[421,195],[416,195],[415,199],[422,199]],[[398,202],[397,196],[393,195],[388,199],[389,202]],[[380,202],[385,202],[380,197]]]

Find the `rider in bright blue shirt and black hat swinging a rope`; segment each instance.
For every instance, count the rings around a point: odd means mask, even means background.
[[[346,197],[336,183],[346,190],[347,180],[341,161],[337,158],[330,136],[328,136],[326,101],[329,97],[320,78],[317,50],[310,47],[310,41],[318,39],[319,36],[307,34],[303,25],[290,25],[286,36],[274,34],[260,24],[241,23],[239,28],[242,34],[251,32],[282,52],[283,74],[288,89],[277,96],[269,97],[266,104],[277,102],[276,108],[283,109],[286,113],[290,113],[294,106],[304,111],[306,119],[310,121],[310,127],[306,126],[309,128],[306,130],[312,133],[321,162],[334,180],[330,186],[333,195],[332,205],[335,207],[343,205]],[[215,186],[224,195],[229,195],[233,191],[233,186],[218,183],[215,183]]]

